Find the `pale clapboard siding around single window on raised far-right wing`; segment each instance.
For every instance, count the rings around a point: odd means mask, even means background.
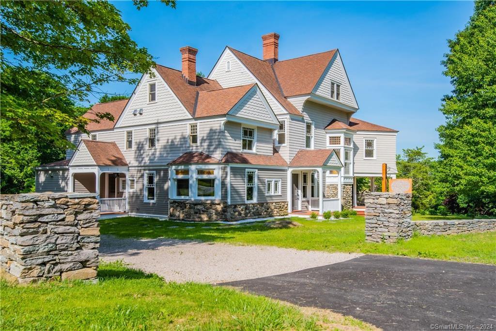
[[[376,159],[364,159],[364,138],[375,138]],[[382,163],[387,163],[391,168],[388,173],[397,173],[396,171],[396,135],[393,134],[360,134],[355,133],[353,136],[353,156],[355,174],[382,174]]]

